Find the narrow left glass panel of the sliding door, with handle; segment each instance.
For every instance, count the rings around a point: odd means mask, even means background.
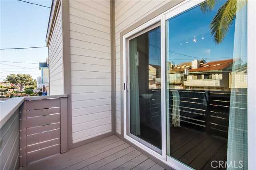
[[[157,152],[161,132],[160,26],[129,41],[130,136]]]

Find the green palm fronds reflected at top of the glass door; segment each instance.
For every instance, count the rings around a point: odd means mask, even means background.
[[[200,8],[204,14],[212,11],[216,5],[217,0],[208,0],[200,4]],[[230,25],[233,24],[236,18],[236,12],[239,11],[247,0],[227,0],[218,10],[210,23],[210,34],[214,37],[216,44],[222,43],[228,34]]]

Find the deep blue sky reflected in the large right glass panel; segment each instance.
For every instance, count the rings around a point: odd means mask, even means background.
[[[203,14],[197,6],[168,20],[169,62],[179,64],[192,61],[193,57],[207,62],[233,58],[235,21],[221,44],[216,45],[210,36],[210,22],[224,2],[218,1],[214,10],[208,14]]]

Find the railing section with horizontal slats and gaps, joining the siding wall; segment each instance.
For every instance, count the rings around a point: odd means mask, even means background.
[[[67,97],[25,98],[20,107],[20,166],[68,151]]]

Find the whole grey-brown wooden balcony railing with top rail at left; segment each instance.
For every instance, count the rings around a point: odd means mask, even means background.
[[[67,152],[68,95],[11,98],[0,107],[0,169]]]

